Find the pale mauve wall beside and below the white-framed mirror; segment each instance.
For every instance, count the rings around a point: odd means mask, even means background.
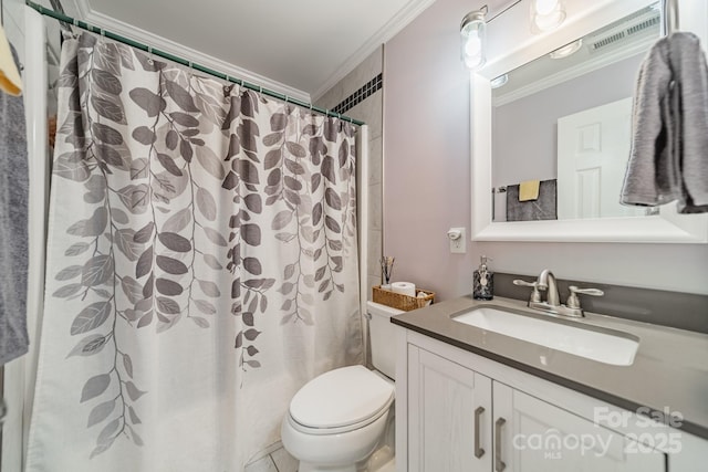
[[[550,268],[562,279],[708,294],[708,245],[486,242],[449,253],[447,229],[470,230],[469,77],[458,28],[482,3],[438,0],[385,48],[384,253],[396,256],[395,277],[438,300],[459,296],[487,254],[497,271]]]

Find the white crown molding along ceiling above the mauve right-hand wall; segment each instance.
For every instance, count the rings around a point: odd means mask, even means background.
[[[435,3],[435,0],[412,0],[405,8],[396,13],[394,18],[376,31],[368,41],[357,49],[354,54],[348,56],[348,59],[344,61],[344,63],[342,63],[342,65],[340,65],[332,75],[330,75],[330,78],[327,78],[314,93],[311,94],[312,102],[314,103],[322,98],[330,88],[356,69],[357,65],[364,62],[364,60],[376,51],[377,48],[398,34],[400,30],[407,27],[433,3]]]

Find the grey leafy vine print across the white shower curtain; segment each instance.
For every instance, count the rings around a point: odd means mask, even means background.
[[[98,359],[76,387],[94,458],[145,443],[133,333],[235,315],[247,371],[263,367],[259,317],[312,326],[317,301],[358,290],[341,275],[356,270],[354,128],[87,33],[62,67],[53,191],[81,193],[85,218],[62,223],[72,262],[48,287],[79,307],[52,313],[72,316],[66,361]],[[277,272],[266,241],[288,249]]]

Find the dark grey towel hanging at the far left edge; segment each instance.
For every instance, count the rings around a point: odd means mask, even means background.
[[[0,365],[28,350],[28,197],[24,103],[0,92]]]

